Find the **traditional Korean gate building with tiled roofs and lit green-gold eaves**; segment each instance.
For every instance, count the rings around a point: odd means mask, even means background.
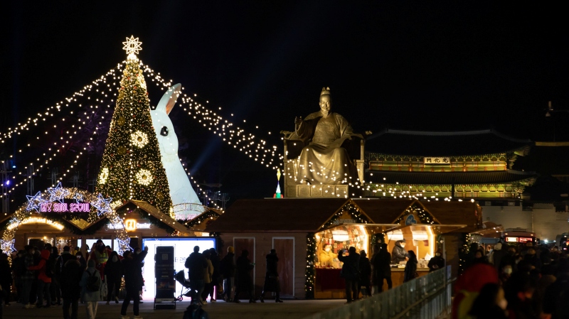
[[[366,140],[366,197],[478,200],[519,206],[536,173],[516,171],[533,142],[494,130],[385,129]]]

